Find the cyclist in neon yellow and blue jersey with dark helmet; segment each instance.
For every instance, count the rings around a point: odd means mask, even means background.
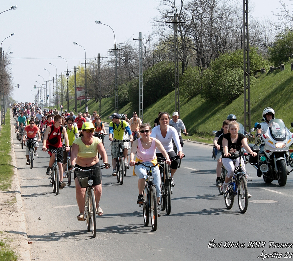
[[[112,165],[113,165],[112,175],[117,176],[115,166],[116,166],[117,157],[119,155],[119,150],[118,150],[119,142],[113,142],[113,139],[123,140],[124,130],[128,132],[130,137],[130,142],[133,141],[133,136],[132,136],[130,128],[127,125],[127,122],[123,120],[120,121],[120,117],[118,113],[113,113],[109,118],[112,120],[109,124],[109,140],[111,141],[111,155],[112,155]],[[122,151],[125,158],[124,160],[125,166],[128,166],[128,163],[127,163],[128,143],[127,142],[122,143]]]

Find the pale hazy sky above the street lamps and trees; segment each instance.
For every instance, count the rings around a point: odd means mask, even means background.
[[[239,3],[243,8],[241,0],[227,2]],[[290,0],[284,2],[293,4]],[[179,0],[175,3],[179,4]],[[98,53],[107,56],[107,51],[114,48],[113,31],[96,24],[96,20],[113,28],[117,44],[133,43],[133,38],[139,38],[139,32],[143,36],[151,33],[152,18],[159,15],[158,0],[0,0],[0,13],[14,5],[18,6],[16,10],[0,15],[0,41],[15,33],[3,41],[2,49],[4,53],[13,51],[9,54],[8,68],[12,68],[13,86],[19,84],[19,89],[14,87],[12,94],[18,102],[32,102],[33,86],[49,80],[49,72],[51,79],[56,77],[56,68],[49,63],[57,67],[58,75],[66,71],[66,61],[58,55],[67,60],[69,71],[84,63],[84,49],[87,60]],[[249,17],[273,17],[272,11],[277,13],[280,6],[275,0],[248,0],[249,10],[253,8]],[[49,83],[47,86],[49,90]]]

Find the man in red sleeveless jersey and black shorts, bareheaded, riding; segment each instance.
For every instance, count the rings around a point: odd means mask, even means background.
[[[65,140],[65,150],[69,151],[69,140],[67,136],[66,129],[61,126],[62,124],[62,118],[60,115],[55,116],[55,121],[54,124],[48,126],[46,128],[44,138],[43,138],[43,151],[47,151],[47,148],[55,149],[55,148],[61,148],[62,147],[62,142],[61,142],[61,134],[63,134],[64,140]],[[47,168],[47,175],[51,175],[51,169],[55,160],[55,154],[49,152],[50,161],[49,161],[49,166]],[[62,168],[62,162],[63,162],[63,153],[62,151],[59,151],[57,154],[57,162],[59,166],[59,173],[63,173],[63,168]],[[65,187],[65,182],[63,182],[63,175],[60,175],[60,183],[59,183],[59,189],[62,189]]]

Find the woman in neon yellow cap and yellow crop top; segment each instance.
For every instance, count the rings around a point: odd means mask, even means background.
[[[106,168],[109,168],[108,157],[105,151],[105,148],[102,144],[102,141],[93,136],[94,126],[91,122],[85,122],[81,127],[81,137],[75,139],[73,141],[71,147],[71,165],[75,165],[80,169],[95,169],[96,178],[94,180],[93,186],[95,186],[95,194],[96,194],[96,214],[99,216],[103,215],[103,210],[100,207],[100,199],[102,195],[102,181],[101,181],[101,170],[100,163],[98,159],[98,152],[102,156],[103,162]],[[78,170],[76,170],[78,171]],[[82,221],[84,219],[84,201],[85,201],[85,193],[86,188],[81,188],[78,179],[76,178],[76,174],[74,172],[74,181],[75,181],[75,191],[76,191],[76,201],[79,207],[79,215],[77,216],[77,220]]]

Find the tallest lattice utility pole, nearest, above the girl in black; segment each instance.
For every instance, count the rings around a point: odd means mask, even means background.
[[[244,83],[244,129],[250,132],[250,61],[248,37],[248,0],[243,0],[243,83]]]

